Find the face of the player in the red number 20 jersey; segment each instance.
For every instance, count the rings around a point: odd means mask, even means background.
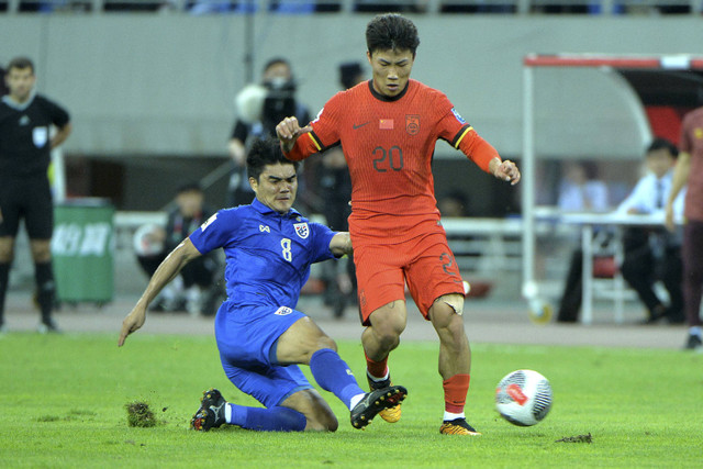
[[[366,53],[373,70],[373,89],[380,94],[394,97],[408,86],[415,62],[410,51],[375,51]]]

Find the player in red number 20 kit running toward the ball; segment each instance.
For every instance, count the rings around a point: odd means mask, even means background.
[[[338,92],[309,125],[287,118],[276,127],[284,155],[301,160],[342,144],[352,176],[349,232],[357,268],[361,335],[369,386],[390,383],[388,356],[408,311],[404,284],[439,337],[444,380],[443,434],[479,435],[466,421],[471,351],[461,313],[464,284],[439,223],[432,157],[442,138],[481,169],[512,185],[520,170],[502,160],[447,97],[410,74],[420,44],[412,21],[376,16],[366,30],[373,78]],[[386,410],[388,422],[400,406]]]

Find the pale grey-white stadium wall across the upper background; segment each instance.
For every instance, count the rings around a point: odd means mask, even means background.
[[[369,18],[254,16],[255,77],[268,58],[288,56],[299,98],[315,113],[337,90],[337,65],[365,59]],[[526,54],[696,54],[703,44],[703,24],[695,18],[411,18],[422,41],[414,77],[445,91],[479,133],[514,156],[522,147]],[[252,19],[0,14],[0,63],[14,55],[35,59],[40,90],[72,114],[67,154],[224,156],[233,98],[245,85],[246,21]],[[622,83],[596,70],[556,74],[536,81],[536,124],[545,130],[537,150],[638,157],[641,126]],[[601,137],[602,145],[593,147]],[[451,154],[438,147],[438,157]]]

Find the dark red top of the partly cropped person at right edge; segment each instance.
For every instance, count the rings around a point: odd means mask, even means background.
[[[683,214],[687,220],[703,222],[703,108],[683,118],[679,146],[691,155]]]

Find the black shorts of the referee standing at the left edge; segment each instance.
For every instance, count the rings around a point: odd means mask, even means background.
[[[46,175],[0,176],[0,237],[16,237],[24,219],[30,239],[51,239],[54,204]]]

